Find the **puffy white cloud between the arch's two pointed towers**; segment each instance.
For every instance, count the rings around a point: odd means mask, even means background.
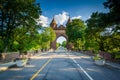
[[[55,21],[58,24],[63,24],[65,21],[67,21],[69,18],[68,13],[67,12],[62,12],[62,14],[58,14],[54,16]]]

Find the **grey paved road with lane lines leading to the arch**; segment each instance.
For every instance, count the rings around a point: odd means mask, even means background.
[[[57,50],[33,56],[25,67],[0,72],[0,80],[120,80],[120,70],[95,65],[87,55]]]

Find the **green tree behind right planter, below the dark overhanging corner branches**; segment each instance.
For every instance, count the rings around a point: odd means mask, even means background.
[[[117,45],[119,44],[117,40],[120,40],[118,32],[114,31],[116,27],[111,26],[111,24],[106,22],[106,19],[108,18],[105,17],[105,14],[96,12],[86,21],[86,49],[106,52],[114,52],[116,49],[116,51],[120,50],[118,48],[119,45]],[[115,44],[114,41],[116,41],[117,44]]]

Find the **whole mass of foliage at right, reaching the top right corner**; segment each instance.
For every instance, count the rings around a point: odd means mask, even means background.
[[[118,53],[120,52],[120,1],[107,0],[104,5],[110,9],[108,13],[92,13],[91,18],[86,21],[86,49]]]

